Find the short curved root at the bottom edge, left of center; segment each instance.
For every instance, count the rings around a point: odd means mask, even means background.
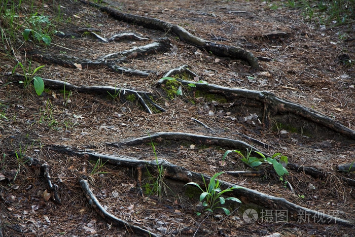
[[[86,199],[91,208],[93,208],[97,214],[99,214],[105,221],[108,223],[119,226],[122,228],[126,228],[129,232],[134,232],[134,234],[139,234],[139,236],[161,236],[160,234],[152,233],[146,229],[140,228],[136,225],[131,225],[128,222],[117,218],[116,216],[112,215],[108,211],[106,211],[97,200],[96,196],[92,193],[89,187],[89,183],[87,181],[86,176],[82,176],[79,178],[79,183],[81,188],[83,189]]]

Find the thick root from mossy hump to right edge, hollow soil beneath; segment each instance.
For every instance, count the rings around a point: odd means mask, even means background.
[[[196,77],[196,74],[191,74],[191,71],[187,69],[187,65],[173,69],[166,75],[175,76],[177,73],[180,75],[183,73],[191,75],[190,78]],[[184,75],[184,77],[186,76]],[[295,104],[286,99],[281,99],[269,91],[228,88],[179,78],[176,80],[182,83],[182,85],[195,84],[196,87],[191,87],[193,91],[192,94],[194,94],[194,91],[199,91],[199,95],[201,96],[203,96],[203,94],[214,94],[227,100],[229,104],[228,107],[237,107],[237,110],[240,112],[248,109],[249,112],[253,111],[257,113],[258,116],[262,118],[262,123],[266,128],[271,128],[273,122],[276,121],[277,123],[286,124],[295,128],[301,127],[302,131],[308,132],[312,136],[314,136],[314,134],[329,136],[330,134],[327,129],[330,129],[344,137],[355,140],[354,130],[313,109]],[[166,80],[160,80],[158,85],[162,85],[165,81]],[[219,104],[224,106],[223,103]],[[302,120],[300,121],[300,119]],[[322,125],[322,127],[319,125]],[[333,136],[335,136],[335,134],[333,134]]]

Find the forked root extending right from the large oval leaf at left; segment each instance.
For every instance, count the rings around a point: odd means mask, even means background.
[[[7,75],[10,76],[12,74],[8,73]],[[22,75],[14,74],[12,76],[17,81],[24,80],[24,77]],[[50,89],[56,89],[56,90],[65,89],[67,91],[73,90],[73,91],[78,91],[80,93],[94,93],[94,94],[110,93],[112,96],[116,96],[117,98],[119,98],[123,103],[127,101],[127,96],[133,95],[134,99],[137,100],[140,103],[140,105],[143,107],[143,109],[148,113],[153,114],[153,111],[150,108],[150,106],[158,111],[165,112],[165,110],[162,107],[154,103],[154,101],[150,98],[152,94],[149,92],[136,91],[136,90],[125,89],[125,88],[117,88],[113,86],[85,86],[85,85],[76,86],[68,82],[46,79],[46,78],[43,78],[43,81],[45,83],[45,87]],[[123,98],[126,99],[124,100]]]

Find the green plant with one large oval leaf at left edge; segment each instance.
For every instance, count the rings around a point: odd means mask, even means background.
[[[24,81],[19,81],[20,84],[23,84],[24,88],[27,88],[28,85],[33,81],[33,86],[34,86],[34,90],[38,95],[41,95],[42,92],[44,91],[44,81],[42,79],[42,77],[39,76],[34,76],[35,73],[37,73],[40,69],[42,69],[42,67],[44,67],[44,65],[41,65],[39,67],[36,67],[33,71],[31,69],[31,61],[28,61],[28,69],[25,68],[25,66],[21,63],[18,62],[14,69],[12,70],[12,73],[15,72],[15,70],[17,69],[18,66],[21,67],[22,72],[23,72],[23,76],[24,76]]]

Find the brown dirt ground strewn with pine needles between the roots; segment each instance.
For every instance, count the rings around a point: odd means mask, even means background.
[[[255,70],[241,60],[198,49],[170,32],[115,20],[79,1],[59,1],[59,13],[56,1],[44,1],[43,7],[40,2],[35,2],[39,13],[50,16],[53,23],[56,17],[60,18],[55,22],[55,29],[73,37],[52,36],[51,45],[46,46],[23,42],[19,35],[17,42],[4,43],[6,47],[0,51],[0,236],[134,236],[125,228],[107,223],[89,206],[78,182],[85,173],[83,167],[87,167],[90,187],[105,210],[129,224],[163,236],[355,236],[353,226],[316,223],[312,219],[277,222],[259,218],[247,223],[243,212],[248,207],[253,209],[255,204],[245,198],[240,206],[231,205],[234,209],[228,216],[219,211],[197,216],[198,195],[189,195],[186,186],[174,186],[161,201],[156,193],[149,195],[145,189],[142,197],[137,192],[134,168],[104,164],[96,166],[95,170],[95,162],[89,163],[85,157],[51,149],[53,145],[61,145],[154,160],[149,143],[118,147],[110,143],[157,132],[240,140],[267,154],[282,153],[289,163],[314,167],[327,177],[315,179],[303,172],[290,171],[285,180],[293,191],[272,175],[252,178],[223,174],[219,177],[221,180],[355,223],[353,186],[341,179],[355,179],[355,174],[339,173],[336,168],[337,164],[355,160],[354,139],[333,135],[323,127],[319,128],[323,131],[312,134],[303,133],[298,125],[293,129],[292,124],[275,123],[265,127],[258,120],[261,115],[254,112],[229,110],[214,98],[190,97],[186,88],[182,95],[169,98],[167,92],[157,86],[168,71],[187,64],[209,85],[271,91],[279,98],[311,108],[354,130],[355,67],[348,63],[355,60],[353,21],[341,26],[317,25],[304,18],[302,9],[287,7],[287,1],[105,1],[120,12],[158,18],[184,27],[201,39],[247,49],[259,59],[260,69]],[[279,7],[273,8],[275,5]],[[24,15],[19,16],[19,21]],[[74,33],[80,28],[93,28],[103,38],[117,33],[136,33],[150,40],[104,43],[91,33],[75,37]],[[270,33],[274,36],[266,37]],[[170,41],[167,52],[120,64],[149,72],[149,76],[121,74],[107,67],[46,63],[32,58],[29,53],[37,49],[53,58],[64,55],[96,60],[164,37]],[[15,57],[26,66],[32,59],[33,69],[45,65],[38,72],[42,78],[77,86],[113,86],[149,92],[166,112],[149,114],[137,101],[127,99],[122,103],[107,94],[45,89],[37,96],[33,88],[24,89],[22,84],[6,76],[17,63]],[[22,73],[19,67],[16,72]],[[241,134],[269,145],[269,149]],[[227,164],[221,165],[223,154],[235,149],[233,147],[196,143],[177,140],[154,145],[158,158],[208,176],[222,171],[253,170],[232,153],[227,156]],[[46,181],[39,168],[25,163],[27,157],[49,164],[52,182],[59,187],[60,205],[46,195],[49,192]],[[272,168],[266,164],[260,169],[272,173]],[[147,188],[149,175],[144,172],[144,176],[143,186]],[[173,185],[172,181],[166,182]],[[263,210],[277,211],[267,207]]]

